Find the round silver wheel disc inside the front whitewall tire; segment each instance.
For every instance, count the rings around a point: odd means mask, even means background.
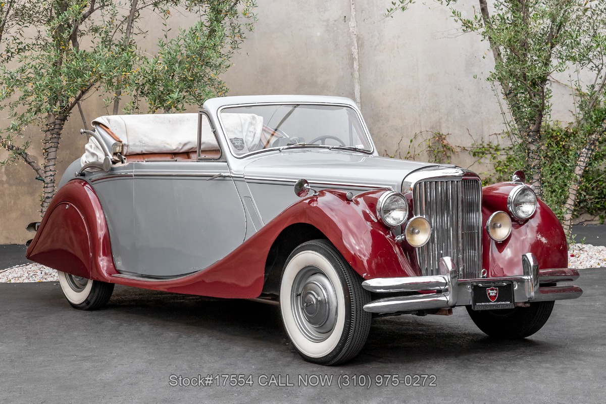
[[[307,339],[321,342],[337,322],[337,297],[328,276],[318,267],[301,270],[293,282],[291,307],[299,330]]]

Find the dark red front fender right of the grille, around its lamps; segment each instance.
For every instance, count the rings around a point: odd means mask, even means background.
[[[495,211],[507,210],[507,196],[519,184],[501,183],[482,188],[484,224]],[[536,211],[525,221],[512,219],[510,236],[495,242],[482,228],[482,264],[488,277],[522,274],[522,254],[533,253],[539,268],[567,268],[568,246],[558,217],[538,199]]]

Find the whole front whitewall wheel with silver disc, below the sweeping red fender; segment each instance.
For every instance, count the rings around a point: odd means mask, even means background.
[[[280,285],[282,322],[308,362],[353,359],[370,331],[368,302],[361,277],[327,240],[302,243],[288,257]]]

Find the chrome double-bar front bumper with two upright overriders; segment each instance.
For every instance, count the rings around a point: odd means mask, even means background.
[[[579,273],[576,270],[569,268],[539,270],[539,263],[531,253],[522,255],[522,268],[524,274],[521,276],[459,279],[459,269],[454,260],[451,257],[442,257],[439,262],[440,274],[436,276],[375,278],[362,282],[362,287],[371,292],[404,294],[404,296],[374,300],[364,305],[364,310],[379,314],[414,313],[422,310],[467,306],[471,305],[472,285],[482,282],[513,282],[513,297],[516,305],[544,300],[576,299],[583,293],[578,286],[553,286],[557,282],[577,279]],[[434,291],[434,293],[415,294],[420,291]]]

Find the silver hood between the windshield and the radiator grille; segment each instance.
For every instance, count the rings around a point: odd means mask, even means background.
[[[245,165],[244,178],[281,184],[305,178],[319,188],[388,187],[399,191],[408,174],[437,166],[342,150],[299,148],[258,156]]]

